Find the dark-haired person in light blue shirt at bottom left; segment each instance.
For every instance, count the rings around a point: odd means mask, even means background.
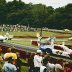
[[[8,58],[8,62],[3,65],[4,72],[16,72],[16,66],[13,65],[13,57]]]

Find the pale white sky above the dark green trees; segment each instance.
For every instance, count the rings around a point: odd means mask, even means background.
[[[13,1],[13,0],[6,0],[6,1],[8,2],[8,1]],[[32,4],[42,3],[46,6],[52,6],[53,8],[62,7],[69,3],[72,3],[72,0],[22,0],[22,1],[25,2],[26,4],[28,4],[30,2]]]

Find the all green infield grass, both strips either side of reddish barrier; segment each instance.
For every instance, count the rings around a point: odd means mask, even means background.
[[[24,31],[24,32],[9,32],[9,34],[12,34],[14,36],[37,36],[37,33],[40,33],[39,32],[32,32],[32,31]],[[6,32],[0,32],[0,34],[6,34]],[[46,37],[49,37],[49,36],[53,36],[53,37],[56,37],[56,36],[72,36],[71,34],[63,34],[63,33],[54,33],[54,32],[48,32],[48,31],[43,31],[42,32],[42,36],[46,36]],[[26,45],[26,46],[34,46],[31,44],[31,38],[23,38],[21,40],[8,40],[7,42],[11,42],[11,43],[16,43],[16,44],[21,44],[21,45]],[[63,39],[61,39],[63,41]],[[61,44],[62,41],[57,41],[56,43],[59,43]],[[72,41],[65,41],[65,44],[70,44],[72,45]],[[34,46],[34,47],[37,47],[37,46]]]

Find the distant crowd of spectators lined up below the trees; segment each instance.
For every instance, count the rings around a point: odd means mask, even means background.
[[[0,31],[8,31],[8,32],[14,32],[14,31],[40,31],[40,28],[33,28],[29,25],[20,25],[20,24],[2,24],[0,25]]]

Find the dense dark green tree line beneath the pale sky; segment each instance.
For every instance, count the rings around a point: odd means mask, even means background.
[[[2,24],[72,29],[72,3],[54,9],[42,4],[25,4],[21,0],[0,0],[0,25]]]

